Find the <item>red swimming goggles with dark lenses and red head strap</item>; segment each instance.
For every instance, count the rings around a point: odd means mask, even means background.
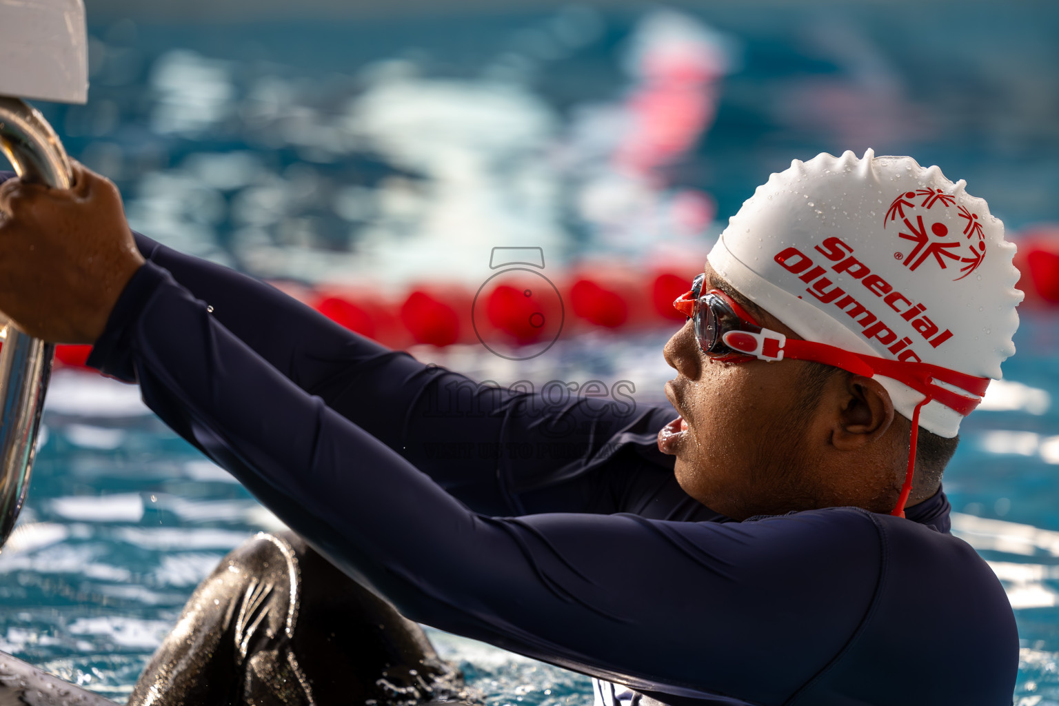
[[[982,396],[989,386],[989,378],[976,378],[930,363],[877,358],[826,343],[788,339],[779,331],[760,326],[724,292],[713,289],[702,294],[703,279],[704,275],[698,275],[692,283],[692,289],[677,298],[672,305],[685,316],[694,320],[695,338],[702,352],[711,360],[728,363],[741,363],[754,359],[775,362],[785,358],[813,361],[868,378],[876,375],[893,378],[926,395],[912,415],[912,443],[908,472],[897,506],[891,512],[903,518],[904,504],[912,491],[919,411],[931,400],[936,400],[966,417],[982,401]],[[948,386],[943,387],[935,381]],[[967,391],[969,395],[953,392],[950,386]]]

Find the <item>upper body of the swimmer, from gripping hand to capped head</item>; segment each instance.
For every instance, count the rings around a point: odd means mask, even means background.
[[[675,304],[679,416],[541,417],[132,234],[80,166],[69,192],[0,185],[0,310],[93,344],[412,620],[589,674],[608,706],[1011,703],[1013,614],[949,533],[941,474],[1021,293],[1003,225],[937,167],[772,175]],[[431,453],[452,442],[541,453]]]

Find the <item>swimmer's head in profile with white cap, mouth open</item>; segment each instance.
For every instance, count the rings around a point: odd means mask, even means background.
[[[729,292],[790,338],[999,378],[1022,298],[1015,246],[964,186],[936,166],[870,150],[795,161],[731,219],[703,291]],[[893,507],[921,392],[800,360],[714,364],[690,324],[666,359],[679,373],[670,401],[687,427],[669,450],[700,501],[732,517]],[[922,404],[910,506],[936,490],[962,418],[936,399]]]

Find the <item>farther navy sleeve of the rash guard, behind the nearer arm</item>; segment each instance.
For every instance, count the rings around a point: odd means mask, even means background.
[[[628,390],[553,381],[490,387],[424,365],[327,320],[275,288],[136,234],[214,318],[272,367],[408,458],[475,511],[577,511],[722,519],[687,497],[653,437],[676,413],[636,405]],[[571,390],[574,388],[574,390]],[[639,442],[635,451],[625,441]],[[634,453],[635,466],[606,464]],[[646,457],[644,457],[646,456]]]

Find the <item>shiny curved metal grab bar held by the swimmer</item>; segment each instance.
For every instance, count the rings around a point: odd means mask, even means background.
[[[73,171],[62,143],[43,115],[18,98],[0,96],[0,150],[23,181],[70,188]],[[30,487],[40,413],[55,345],[7,324],[0,347],[0,545]]]

